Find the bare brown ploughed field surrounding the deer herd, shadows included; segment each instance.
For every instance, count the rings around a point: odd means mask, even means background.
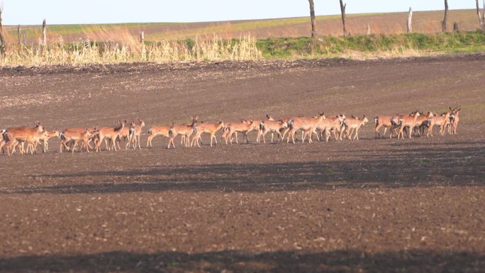
[[[0,155],[0,272],[484,272],[484,77],[485,55],[4,69],[2,128],[371,122],[352,142]],[[458,135],[374,139],[377,114],[448,106]]]

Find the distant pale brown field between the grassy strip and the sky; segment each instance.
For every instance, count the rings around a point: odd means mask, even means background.
[[[366,33],[369,24],[372,33],[396,34],[406,30],[407,12],[402,13],[365,13],[347,15],[347,28],[352,34]],[[413,32],[437,33],[441,31],[440,21],[443,11],[415,11],[413,13]],[[48,18],[49,19],[49,18]],[[163,18],[160,18],[163,20]],[[475,30],[478,26],[474,9],[452,10],[449,14],[449,28],[458,22],[461,30]],[[40,22],[39,22],[40,23]],[[341,35],[340,15],[318,16],[319,35]],[[7,26],[7,39],[16,43],[17,27]],[[37,41],[41,36],[40,26],[21,26],[28,43]],[[186,38],[206,38],[217,35],[220,38],[238,38],[250,34],[254,38],[301,37],[309,35],[309,18],[277,18],[252,21],[221,21],[207,23],[122,23],[94,25],[52,25],[48,26],[48,39],[65,41],[113,40],[117,35],[138,35],[145,31],[146,40],[182,40]],[[23,35],[22,35],[23,39]]]

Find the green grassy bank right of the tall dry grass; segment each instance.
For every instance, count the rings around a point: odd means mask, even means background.
[[[257,41],[266,59],[298,57],[399,57],[406,55],[485,52],[481,30],[440,34],[351,35],[311,38],[269,38]]]

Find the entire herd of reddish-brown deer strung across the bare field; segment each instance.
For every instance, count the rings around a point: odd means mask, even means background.
[[[412,134],[433,136],[433,128],[440,127],[440,135],[445,133],[456,134],[459,122],[459,108],[451,108],[450,111],[442,113],[440,116],[435,116],[428,112],[424,115],[422,112],[416,111],[410,114],[396,115],[396,116],[376,116],[374,121],[376,123],[375,134],[376,137],[381,137],[379,129],[384,127],[384,134],[389,129],[389,138],[396,135],[397,138],[404,138],[404,133],[411,138]],[[217,144],[216,133],[222,130],[221,141],[225,140],[225,144],[232,144],[233,140],[238,143],[238,133],[243,134],[243,140],[249,143],[248,133],[257,131],[257,143],[260,143],[262,138],[263,143],[266,143],[267,133],[271,133],[271,142],[273,143],[274,134],[277,134],[279,140],[284,140],[286,136],[286,143],[290,139],[295,143],[295,134],[301,130],[301,141],[304,143],[308,137],[308,143],[312,143],[313,135],[318,141],[325,138],[325,141],[330,139],[333,134],[335,140],[342,140],[348,138],[349,140],[359,140],[359,129],[364,126],[369,120],[366,116],[357,118],[346,118],[345,115],[336,115],[325,117],[324,113],[320,113],[313,118],[305,118],[303,116],[294,118],[282,118],[279,121],[274,120],[270,114],[266,115],[264,120],[245,120],[240,119],[239,122],[224,123],[197,123],[199,117],[190,117],[191,122],[184,124],[172,124],[172,126],[154,126],[148,129],[147,147],[152,146],[152,140],[157,135],[162,135],[169,138],[168,148],[175,147],[174,139],[178,135],[181,136],[180,144],[185,147],[194,147],[197,145],[201,147],[201,135],[207,134],[211,138],[211,147],[213,142]],[[106,150],[121,149],[121,140],[125,141],[125,148],[130,145],[133,148],[140,145],[140,135],[142,134],[145,121],[140,120],[138,124],[131,121],[129,126],[127,122],[119,121],[116,127],[99,127],[93,128],[67,128],[60,132],[57,129],[52,131],[45,130],[40,123],[36,123],[34,128],[17,127],[7,128],[1,131],[0,148],[4,152],[6,147],[8,155],[16,151],[18,147],[21,154],[33,154],[37,152],[38,145],[41,145],[43,152],[48,151],[48,140],[53,137],[61,139],[60,152],[63,150],[74,153],[77,147],[82,150],[101,151],[101,144],[104,143]],[[27,149],[25,149],[25,144]]]

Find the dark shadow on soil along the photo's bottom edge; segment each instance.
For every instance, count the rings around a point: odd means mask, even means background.
[[[483,272],[472,252],[103,252],[0,259],[0,272]],[[225,270],[225,271],[223,271]]]

